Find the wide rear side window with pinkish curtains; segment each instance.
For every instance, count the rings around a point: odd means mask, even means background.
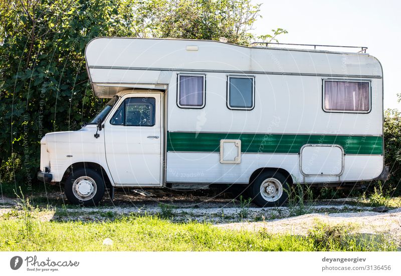
[[[324,110],[368,112],[369,82],[324,81]]]

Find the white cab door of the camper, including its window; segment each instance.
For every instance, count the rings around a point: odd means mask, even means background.
[[[125,94],[104,124],[107,166],[117,185],[159,186],[161,93]]]

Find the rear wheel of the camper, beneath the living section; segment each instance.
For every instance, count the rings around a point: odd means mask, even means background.
[[[282,206],[288,199],[289,177],[276,171],[265,171],[252,182],[253,202],[260,207]]]

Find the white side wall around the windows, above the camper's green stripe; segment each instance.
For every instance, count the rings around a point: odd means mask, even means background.
[[[374,88],[368,114],[325,112],[322,80],[326,77],[262,74],[253,75],[254,108],[231,110],[227,107],[227,77],[231,74],[207,73],[206,105],[197,110],[177,106],[177,74],[173,72],[168,83],[168,131],[371,136],[383,133],[381,79],[364,79]]]

